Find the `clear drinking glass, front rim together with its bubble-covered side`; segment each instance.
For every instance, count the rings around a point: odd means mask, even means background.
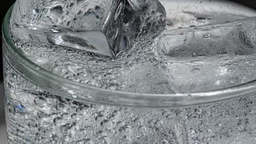
[[[9,143],[255,143],[256,80],[211,92],[139,94],[83,85],[27,59],[3,23]]]

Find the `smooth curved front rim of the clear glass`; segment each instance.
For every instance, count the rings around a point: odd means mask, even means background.
[[[9,27],[13,7],[14,6],[8,10],[4,17],[2,26],[2,43],[5,45],[3,46],[5,59],[7,59],[11,67],[26,79],[36,85],[48,89],[51,92],[62,94],[63,97],[78,101],[86,101],[86,103],[90,102],[107,105],[163,108],[213,103],[216,101],[242,97],[243,95],[256,92],[256,80],[234,87],[207,92],[147,94],[103,89],[65,79],[30,61],[30,59],[23,55],[22,52],[14,45],[13,40],[11,39]],[[84,97],[74,97],[70,94],[71,90],[75,92],[78,91],[79,93],[90,94]]]

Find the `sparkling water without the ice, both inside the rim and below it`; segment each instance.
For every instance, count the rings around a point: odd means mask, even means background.
[[[239,16],[234,16],[234,20]],[[222,21],[217,20],[217,23]],[[196,22],[203,25],[208,21]],[[186,23],[174,23],[167,29],[185,27]],[[129,52],[112,59],[14,37],[15,44],[34,63],[66,79],[101,88],[141,93],[189,93],[236,86],[255,79],[255,53],[213,56],[190,53],[168,57],[160,55],[155,41],[150,40],[150,37],[142,38],[141,41],[147,43],[137,43]],[[34,85],[11,68],[8,57],[5,58],[9,143],[256,142],[255,93],[179,109],[89,104],[65,99]]]

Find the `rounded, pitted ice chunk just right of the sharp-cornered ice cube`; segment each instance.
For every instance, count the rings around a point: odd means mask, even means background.
[[[158,0],[126,0],[124,27],[130,43],[145,34],[158,34],[165,26],[166,11]]]

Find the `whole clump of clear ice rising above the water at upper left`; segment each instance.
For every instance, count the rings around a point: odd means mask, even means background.
[[[18,0],[11,31],[23,40],[115,56],[165,28],[158,0]]]

